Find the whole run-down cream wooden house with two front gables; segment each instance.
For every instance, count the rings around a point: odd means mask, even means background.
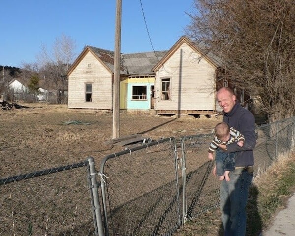
[[[218,59],[182,36],[168,51],[121,54],[120,109],[214,114]],[[113,109],[114,52],[87,46],[68,73],[69,109]]]

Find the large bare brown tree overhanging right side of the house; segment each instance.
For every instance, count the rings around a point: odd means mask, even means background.
[[[293,0],[194,0],[187,34],[223,60],[224,78],[261,99],[270,121],[295,111]]]

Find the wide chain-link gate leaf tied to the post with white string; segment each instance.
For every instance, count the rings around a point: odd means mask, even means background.
[[[174,138],[106,156],[100,167],[106,235],[172,235],[180,226]]]

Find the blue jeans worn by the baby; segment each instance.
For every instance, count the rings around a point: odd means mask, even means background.
[[[235,170],[235,156],[236,152],[225,153],[220,148],[217,148],[215,154],[217,176],[223,176],[224,171]]]

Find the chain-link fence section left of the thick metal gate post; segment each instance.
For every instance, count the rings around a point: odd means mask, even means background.
[[[97,235],[91,160],[0,179],[0,235]]]

